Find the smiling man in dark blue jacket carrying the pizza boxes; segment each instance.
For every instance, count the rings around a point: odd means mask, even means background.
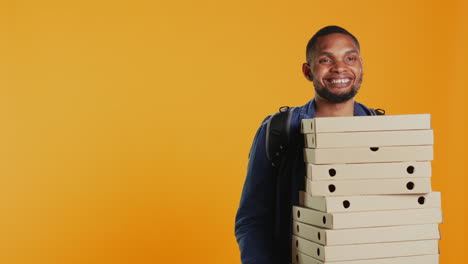
[[[362,58],[358,40],[338,26],[320,29],[310,39],[302,72],[313,82],[315,98],[291,111],[289,143],[285,163],[273,167],[266,154],[265,119],[255,135],[239,209],[235,234],[243,264],[286,264],[291,262],[292,206],[304,190],[304,142],[302,119],[335,116],[375,115],[355,102],[362,82]],[[286,181],[276,182],[278,170]]]

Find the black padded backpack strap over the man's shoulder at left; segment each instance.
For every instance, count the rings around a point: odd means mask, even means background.
[[[279,112],[271,116],[267,123],[266,153],[272,166],[279,164],[281,156],[289,143],[289,121],[291,110],[289,106],[282,106]]]

